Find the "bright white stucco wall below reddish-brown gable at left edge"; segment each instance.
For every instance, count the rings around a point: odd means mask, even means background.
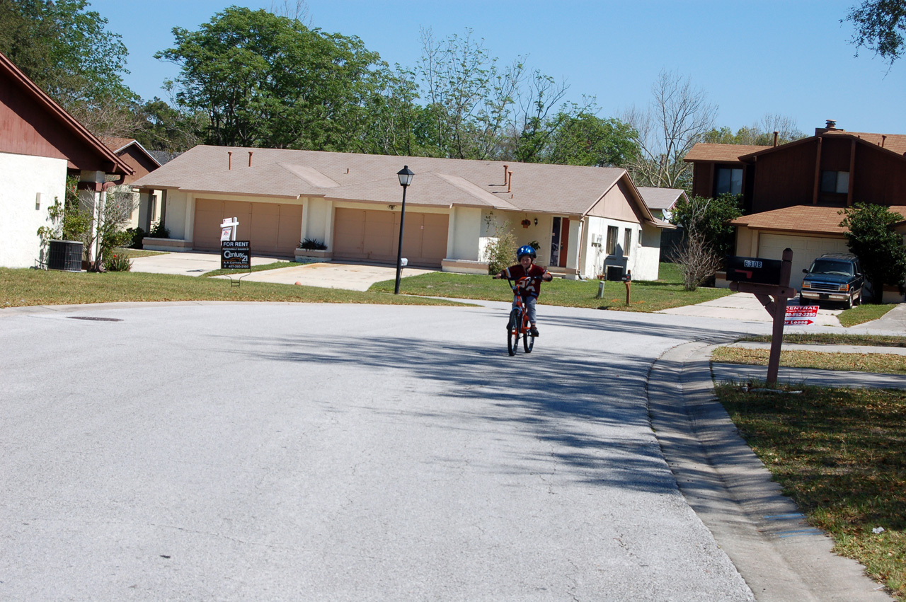
[[[54,197],[63,203],[65,192],[66,159],[0,153],[0,266],[34,265],[41,252],[38,228],[51,225],[47,208]]]

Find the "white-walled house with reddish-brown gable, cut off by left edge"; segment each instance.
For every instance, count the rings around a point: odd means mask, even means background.
[[[66,177],[79,179],[82,205],[94,208],[107,176],[132,173],[104,146],[0,53],[0,266],[43,261],[38,228],[50,226],[54,199],[63,203]],[[87,250],[91,257],[92,249]]]

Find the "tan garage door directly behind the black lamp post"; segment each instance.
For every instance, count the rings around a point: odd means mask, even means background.
[[[447,256],[448,215],[406,212],[402,256],[410,265],[439,268]],[[338,207],[333,217],[333,257],[396,263],[400,214]]]

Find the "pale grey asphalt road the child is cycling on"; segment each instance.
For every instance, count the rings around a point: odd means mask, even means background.
[[[5,315],[0,599],[753,599],[646,378],[769,325],[545,306],[510,358],[506,311]]]

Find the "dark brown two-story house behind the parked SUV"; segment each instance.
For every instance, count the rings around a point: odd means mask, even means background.
[[[848,132],[828,121],[783,145],[697,144],[692,194],[741,194],[737,255],[780,259],[793,249],[793,280],[821,253],[846,253],[841,212],[877,203],[906,217],[906,136]],[[906,222],[898,225],[906,233]]]

